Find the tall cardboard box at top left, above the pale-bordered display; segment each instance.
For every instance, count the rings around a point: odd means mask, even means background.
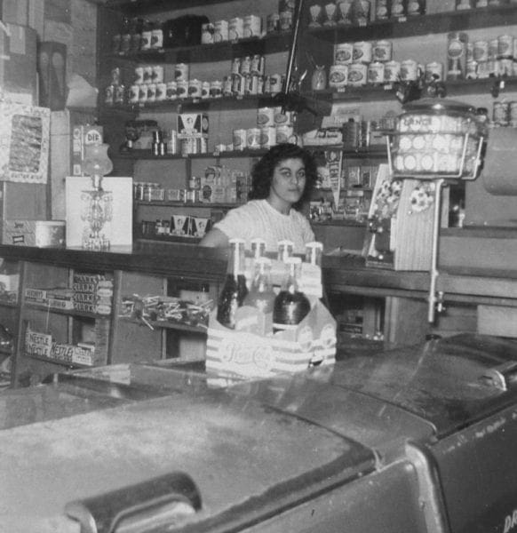
[[[36,30],[0,24],[0,88],[4,98],[26,106],[37,100]]]

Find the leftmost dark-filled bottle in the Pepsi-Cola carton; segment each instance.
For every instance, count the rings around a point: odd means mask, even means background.
[[[235,311],[243,306],[248,294],[244,275],[244,240],[230,239],[229,246],[227,277],[219,294],[217,320],[221,325],[235,330]]]

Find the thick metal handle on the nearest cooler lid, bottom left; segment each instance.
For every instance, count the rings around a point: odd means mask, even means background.
[[[69,502],[65,513],[81,533],[144,533],[201,509],[201,496],[186,473],[174,472],[107,494]]]

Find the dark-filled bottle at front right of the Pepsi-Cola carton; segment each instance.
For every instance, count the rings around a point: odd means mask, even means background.
[[[294,329],[311,310],[311,303],[299,289],[301,275],[301,259],[292,257],[285,259],[285,275],[282,288],[273,307],[273,330]]]

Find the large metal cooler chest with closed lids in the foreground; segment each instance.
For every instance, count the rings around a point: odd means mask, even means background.
[[[462,335],[259,381],[202,367],[0,396],[0,529],[512,530],[516,342]]]

